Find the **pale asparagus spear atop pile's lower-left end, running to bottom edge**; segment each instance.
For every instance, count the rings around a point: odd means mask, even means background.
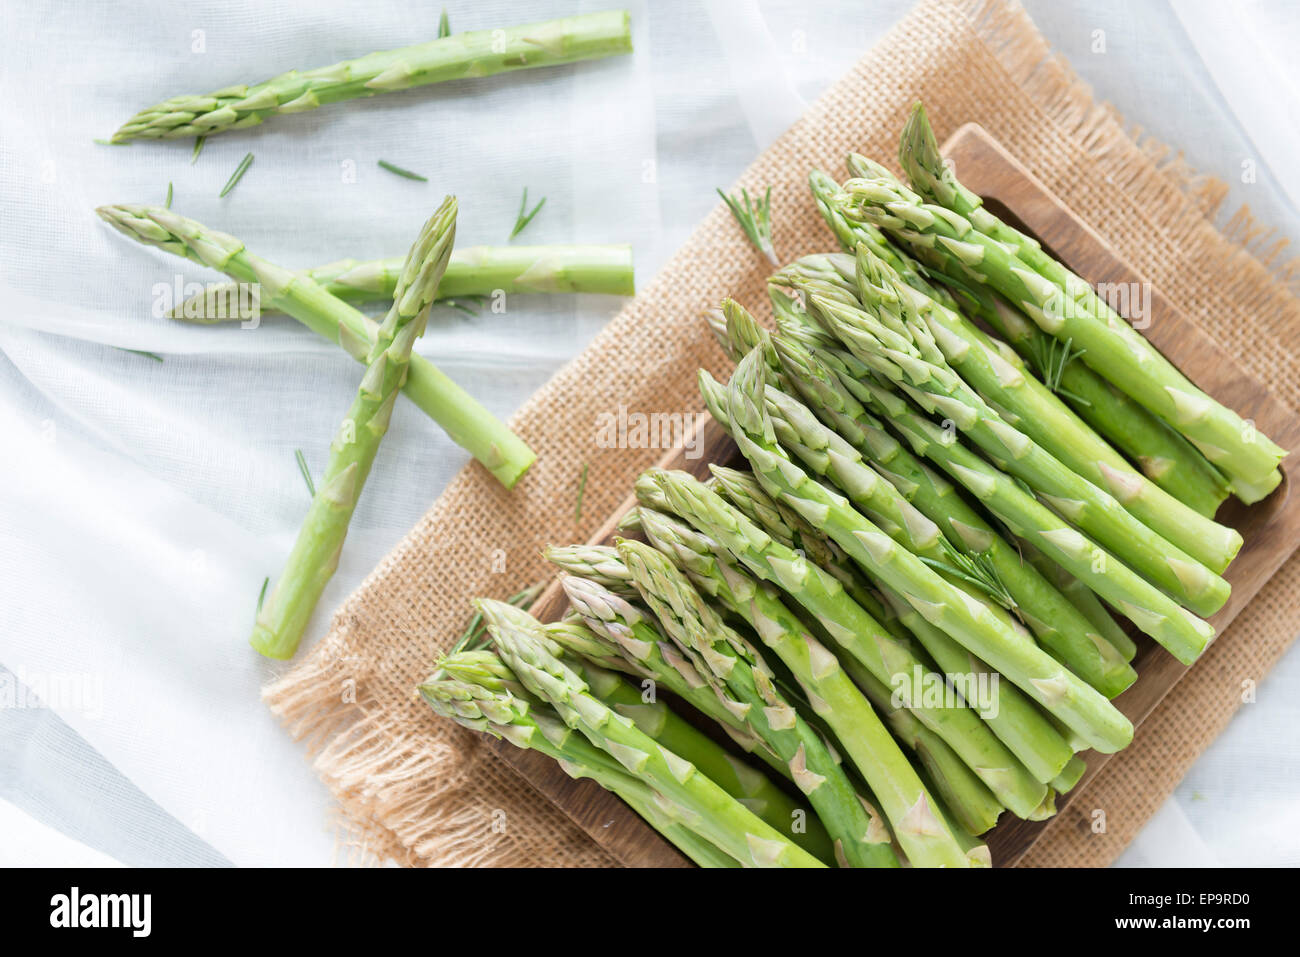
[[[745,865],[820,867],[820,861],[757,818],[694,765],[660,746],[594,697],[555,654],[537,623],[510,605],[480,599],[502,659],[549,702],[566,726],[645,780],[686,815],[690,827]]]

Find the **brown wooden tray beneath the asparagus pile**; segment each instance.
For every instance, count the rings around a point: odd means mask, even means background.
[[[962,126],[945,143],[944,155],[959,170],[962,183],[984,196],[993,212],[1035,235],[1057,259],[1088,282],[1143,282],[1092,226],[998,146],[983,127],[975,124]],[[701,303],[701,307],[705,306],[706,303]],[[1141,332],[1165,356],[1204,391],[1243,417],[1253,420],[1262,433],[1291,452],[1284,463],[1283,481],[1269,498],[1249,507],[1231,499],[1219,510],[1218,520],[1236,528],[1244,540],[1242,551],[1225,573],[1232,585],[1232,594],[1223,609],[1209,619],[1219,633],[1217,640],[1231,641],[1231,632],[1225,635],[1228,623],[1300,545],[1300,501],[1291,497],[1295,472],[1300,469],[1300,419],[1258,380],[1247,374],[1199,325],[1179,313],[1158,289],[1152,291],[1149,315],[1150,321]],[[708,477],[711,462],[742,464],[734,443],[711,419],[702,420],[697,434],[702,454],[686,458],[679,449],[666,455],[659,464],[690,472],[699,478]],[[636,499],[629,495],[592,541],[611,541],[618,523],[634,506]],[[547,622],[563,616],[567,601],[559,585],[552,583],[538,597],[532,611]],[[1132,663],[1139,677],[1115,698],[1115,705],[1136,727],[1187,674],[1187,667],[1145,636],[1135,635],[1135,638],[1139,650]],[[494,745],[511,767],[615,859],[632,867],[690,866],[656,831],[599,785],[588,780],[572,780],[554,761],[537,752],[520,750],[503,741]],[[1057,798],[1058,810],[1067,806],[1114,755],[1087,752],[1083,757],[1088,771],[1074,791]],[[1046,822],[1020,820],[1004,814],[1002,822],[985,835],[994,865],[1015,865],[1045,826]]]

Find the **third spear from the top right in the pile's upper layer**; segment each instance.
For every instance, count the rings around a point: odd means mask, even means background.
[[[1227,601],[1228,584],[1182,551],[1086,477],[1006,421],[944,363],[923,324],[907,322],[878,300],[855,309],[812,298],[818,317],[872,372],[893,382],[930,412],[942,415],[993,460],[1027,482],[1071,524],[1178,598],[1209,615]],[[906,334],[901,334],[904,329]]]

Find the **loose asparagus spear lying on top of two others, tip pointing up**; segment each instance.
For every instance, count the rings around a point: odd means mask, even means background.
[[[329,464],[307,519],[283,573],[257,612],[251,644],[268,658],[291,658],[298,650],[316,602],[338,567],[348,523],[406,380],[411,347],[424,333],[455,238],[456,200],[448,196],[407,255],[396,300],[367,355],[365,374],[330,445]]]

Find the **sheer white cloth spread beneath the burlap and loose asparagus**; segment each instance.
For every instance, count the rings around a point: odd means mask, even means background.
[[[604,5],[447,4],[456,31]],[[1248,200],[1296,234],[1278,178],[1300,155],[1294,9],[1027,5],[1098,95],[1232,182],[1230,205]],[[333,859],[329,796],[259,701],[282,666],[246,636],[307,506],[294,450],[320,472],[356,365],[289,321],[244,332],[155,317],[156,283],[209,277],[110,233],[95,205],[160,203],[170,181],[174,209],[296,268],[404,252],[443,191],[460,198],[462,244],[504,242],[526,186],[547,203],[517,242],[630,242],[645,282],[714,187],[907,8],[633,4],[632,57],[276,120],[213,138],[191,166],[188,142],[92,139],[168,95],[430,38],[442,4],[0,7],[0,863]],[[254,166],[217,199],[247,151]],[[618,304],[442,309],[419,348],[506,416]],[[464,460],[399,403],[313,637]],[[32,706],[42,687],[55,690]],[[1300,863],[1297,690],[1292,650],[1123,863]]]

